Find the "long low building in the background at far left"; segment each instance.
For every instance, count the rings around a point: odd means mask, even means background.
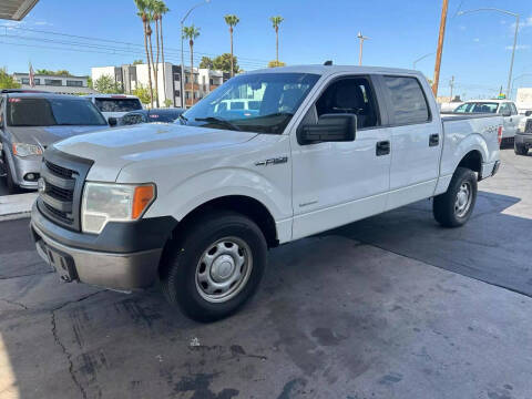
[[[43,75],[34,74],[34,88],[30,85],[29,73],[13,73],[13,78],[22,85],[22,89],[35,89],[59,94],[92,94],[94,90],[89,88],[89,76],[73,75]]]

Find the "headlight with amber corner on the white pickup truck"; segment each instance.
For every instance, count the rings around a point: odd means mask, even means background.
[[[108,222],[139,219],[155,200],[154,184],[86,183],[81,206],[84,233],[99,234]]]

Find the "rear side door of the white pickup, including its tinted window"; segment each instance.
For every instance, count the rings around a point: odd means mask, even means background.
[[[416,75],[382,75],[391,132],[390,194],[392,209],[434,193],[439,176],[442,126],[437,105]],[[432,103],[432,104],[431,104]]]

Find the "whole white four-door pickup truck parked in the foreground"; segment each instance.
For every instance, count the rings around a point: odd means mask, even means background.
[[[249,98],[256,113],[217,106]],[[171,304],[214,320],[256,291],[270,247],[423,198],[441,225],[463,225],[501,135],[497,114],[441,119],[416,71],[245,73],[175,124],[49,147],[31,229],[63,282],[158,280]]]

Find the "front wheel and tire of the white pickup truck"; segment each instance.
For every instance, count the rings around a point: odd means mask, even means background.
[[[257,290],[266,239],[252,219],[234,212],[211,213],[188,226],[163,258],[163,293],[194,320],[227,317]]]

